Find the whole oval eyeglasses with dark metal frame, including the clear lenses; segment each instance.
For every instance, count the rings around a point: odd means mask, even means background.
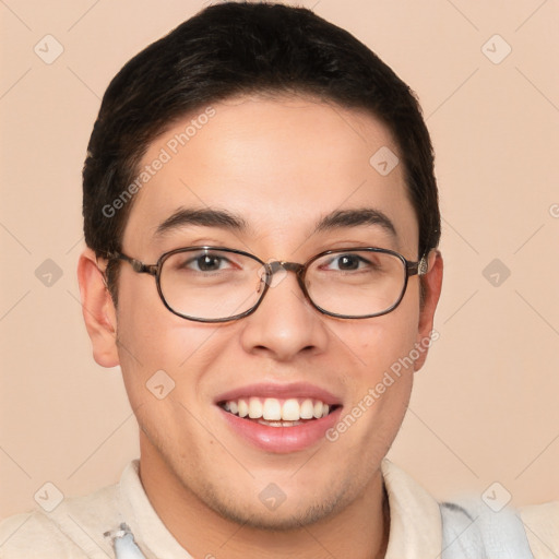
[[[155,276],[163,304],[173,313],[198,322],[228,322],[254,312],[271,286],[294,272],[309,302],[341,319],[380,317],[404,297],[408,277],[427,273],[427,259],[373,247],[326,250],[305,264],[263,262],[254,254],[224,247],[188,247],[162,254],[156,264],[127,257],[139,274]]]

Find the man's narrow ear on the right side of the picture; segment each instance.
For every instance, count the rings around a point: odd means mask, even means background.
[[[438,340],[438,333],[432,334],[432,322],[435,310],[439,302],[442,287],[442,255],[438,250],[432,250],[428,257],[428,272],[421,276],[424,289],[424,300],[419,310],[419,324],[417,329],[416,347],[418,347],[419,357],[415,360],[414,370],[418,371],[425,364],[428,348],[431,344],[429,340]]]

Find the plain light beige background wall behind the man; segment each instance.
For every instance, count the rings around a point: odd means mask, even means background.
[[[82,323],[81,168],[112,75],[203,5],[0,2],[0,516],[36,507],[46,481],[67,496],[115,483],[138,455],[119,370],[93,361]],[[413,86],[437,151],[440,340],[390,456],[441,499],[493,481],[515,506],[559,499],[559,3],[302,5]],[[34,52],[47,34],[64,49],[51,64]],[[35,275],[47,259],[51,286]],[[493,259],[510,270],[499,286]]]

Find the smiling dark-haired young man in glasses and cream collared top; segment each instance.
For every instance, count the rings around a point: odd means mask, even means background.
[[[436,335],[432,163],[409,88],[308,10],[222,3],[134,57],[90,141],[79,280],[141,456],[5,521],[2,557],[558,554],[557,504],[440,507],[384,459]]]

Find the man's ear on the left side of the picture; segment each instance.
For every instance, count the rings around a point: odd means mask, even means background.
[[[120,362],[117,352],[117,312],[95,252],[88,248],[80,255],[78,282],[93,357],[102,367],[116,367]]]

